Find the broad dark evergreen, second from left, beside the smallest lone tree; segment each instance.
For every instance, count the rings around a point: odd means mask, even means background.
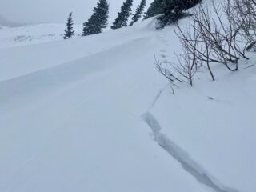
[[[82,36],[90,34],[102,33],[102,30],[106,28],[109,18],[109,4],[106,0],[99,0],[97,6],[94,7],[94,13],[83,24]]]

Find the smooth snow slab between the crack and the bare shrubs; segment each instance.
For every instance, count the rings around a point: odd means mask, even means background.
[[[152,112],[167,137],[238,191],[256,189],[255,81],[255,68],[241,69],[217,82],[178,90],[172,99],[163,93]]]

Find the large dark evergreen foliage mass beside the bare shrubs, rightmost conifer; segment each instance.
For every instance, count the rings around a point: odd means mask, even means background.
[[[184,10],[190,9],[202,0],[154,0],[147,10],[144,18],[158,17],[158,28],[162,28],[170,23],[177,22],[179,18],[186,17],[188,14]]]

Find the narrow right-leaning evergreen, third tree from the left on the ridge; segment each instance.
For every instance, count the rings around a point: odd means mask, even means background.
[[[111,29],[115,30],[123,26],[127,26],[132,5],[133,5],[133,0],[126,0],[126,2],[123,3],[121,7],[121,11],[118,12],[118,17],[115,19],[113,26],[111,26]]]

